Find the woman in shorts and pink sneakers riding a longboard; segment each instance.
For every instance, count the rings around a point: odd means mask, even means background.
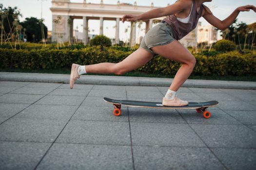
[[[212,0],[178,0],[173,5],[153,9],[138,16],[124,15],[121,18],[123,23],[124,21],[167,17],[147,32],[137,51],[134,51],[119,63],[99,63],[88,66],[72,64],[70,88],[73,88],[75,81],[81,74],[124,74],[145,65],[155,54],[159,54],[167,59],[178,61],[182,64],[164,96],[162,104],[166,106],[187,105],[188,102],[180,100],[176,92],[190,76],[195,67],[196,59],[177,40],[196,28],[199,17],[204,17],[216,28],[225,30],[234,22],[241,11],[250,11],[250,9],[252,9],[256,12],[256,7],[253,5],[241,6],[236,8],[229,17],[221,21],[212,14],[208,7],[203,5],[204,2],[210,1]]]

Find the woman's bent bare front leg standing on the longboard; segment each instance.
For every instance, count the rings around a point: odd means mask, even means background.
[[[196,65],[195,57],[177,40],[163,46],[152,47],[151,49],[165,58],[182,63],[169,88],[170,90],[177,91],[192,73]]]

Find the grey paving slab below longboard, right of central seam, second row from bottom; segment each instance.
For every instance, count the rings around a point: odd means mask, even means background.
[[[206,147],[187,124],[131,122],[133,145]]]

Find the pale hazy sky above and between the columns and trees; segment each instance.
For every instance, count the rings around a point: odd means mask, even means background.
[[[41,2],[42,1],[42,2]],[[52,14],[50,7],[52,6],[52,0],[0,0],[0,3],[4,7],[15,7],[17,6],[20,9],[23,17],[20,17],[20,21],[25,20],[26,17],[37,17],[41,18],[41,8],[42,8],[42,18],[44,18],[44,24],[47,26],[48,30],[52,30]],[[70,0],[71,2],[82,3],[83,0]],[[87,3],[100,3],[100,0],[86,0]],[[117,4],[118,0],[103,0],[104,4]],[[131,3],[134,4],[135,0],[119,0],[120,3]],[[137,5],[141,6],[150,6],[151,2],[154,3],[155,7],[165,7],[168,3],[173,4],[176,0],[136,0]],[[42,4],[42,6],[41,6]],[[243,5],[255,5],[256,0],[212,0],[212,2],[206,2],[205,5],[212,7],[211,11],[219,19],[223,20],[228,17],[238,6]],[[250,12],[241,12],[237,17],[238,21],[243,21],[247,24],[256,22],[256,13],[253,11]],[[209,23],[201,17],[199,21],[202,22],[202,25],[208,25]],[[93,34],[99,34],[99,20],[89,20],[89,30],[95,30]],[[103,34],[110,38],[115,38],[114,26],[116,25],[115,21],[104,21]],[[129,38],[129,34],[125,34],[124,30],[130,25],[129,22],[120,23],[120,40],[125,41]],[[74,20],[74,29],[82,32],[82,19]],[[145,23],[142,24],[141,29],[145,29]],[[92,34],[92,32],[90,33]],[[138,31],[137,35],[143,36],[143,31]]]

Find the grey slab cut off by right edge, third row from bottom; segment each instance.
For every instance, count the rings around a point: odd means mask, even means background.
[[[256,112],[255,111],[239,111],[239,110],[227,110],[225,111],[229,115],[238,119],[240,122],[246,125],[256,125]]]

